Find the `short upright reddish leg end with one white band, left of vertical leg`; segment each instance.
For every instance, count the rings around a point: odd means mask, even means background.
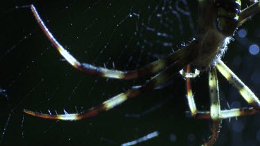
[[[191,65],[189,64],[187,66],[187,73],[190,73],[191,71]],[[197,108],[196,108],[196,104],[195,104],[195,100],[194,100],[194,96],[192,93],[192,89],[191,89],[191,78],[190,77],[186,77],[186,86],[187,86],[187,100],[189,103],[189,110],[191,111],[191,115],[193,117],[196,117],[196,112],[197,112]]]

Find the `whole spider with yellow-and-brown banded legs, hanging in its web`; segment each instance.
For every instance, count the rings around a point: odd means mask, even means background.
[[[30,8],[33,15],[46,37],[48,37],[51,44],[60,52],[64,59],[78,71],[121,80],[131,80],[144,75],[156,75],[141,86],[115,95],[113,98],[82,113],[51,115],[37,113],[27,109],[24,109],[24,112],[40,118],[82,120],[96,116],[102,111],[112,109],[144,91],[155,89],[157,86],[170,80],[176,73],[180,73],[186,78],[187,82],[187,100],[190,109],[187,116],[196,119],[212,120],[212,134],[204,145],[214,145],[216,138],[218,138],[218,132],[220,131],[221,120],[237,116],[252,115],[260,111],[260,101],[257,96],[221,61],[221,57],[227,50],[229,39],[234,35],[236,28],[260,12],[260,1],[254,1],[252,5],[243,10],[241,10],[240,0],[199,0],[198,3],[200,14],[198,19],[198,37],[171,55],[141,67],[136,71],[117,71],[78,62],[78,60],[65,50],[55,37],[53,37],[49,29],[45,26],[44,21],[40,18],[35,6],[31,5]],[[190,71],[191,66],[196,69],[194,73]],[[187,67],[186,72],[183,70],[185,67]],[[227,110],[220,109],[216,70],[238,89],[239,93],[251,107]],[[209,73],[210,111],[198,111],[193,98],[191,78],[198,76],[200,72]]]

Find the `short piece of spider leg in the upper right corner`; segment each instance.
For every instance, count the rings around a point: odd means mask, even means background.
[[[260,1],[257,1],[241,11],[239,15],[239,25],[242,25],[245,21],[248,21],[248,19],[250,19],[250,17],[255,15],[257,12],[260,12]]]

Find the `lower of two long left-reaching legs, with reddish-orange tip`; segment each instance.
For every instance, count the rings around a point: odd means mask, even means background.
[[[116,95],[113,98],[106,100],[101,105],[89,109],[89,111],[85,111],[83,113],[60,114],[60,115],[42,114],[34,111],[29,111],[27,109],[24,109],[24,112],[32,116],[37,116],[40,118],[56,119],[56,120],[82,120],[84,118],[96,116],[101,111],[107,111],[109,109],[112,109],[118,106],[119,104],[125,102],[125,100],[133,98],[136,95],[139,95],[140,93],[143,93],[144,91],[147,91],[149,89],[155,89],[155,87],[164,84],[165,82],[170,80],[171,77],[175,75],[175,73],[178,73],[180,69],[182,69],[184,66],[187,66],[187,64],[189,64],[193,60],[192,57],[193,55],[191,55],[191,51],[190,51],[190,49],[193,49],[192,46],[193,45],[189,45],[180,49],[180,51],[183,53],[182,58],[180,60],[177,60],[177,62],[175,62],[168,68],[166,68],[164,71],[153,76],[150,80],[148,80],[139,88],[131,89],[124,93],[120,93],[119,95]]]

